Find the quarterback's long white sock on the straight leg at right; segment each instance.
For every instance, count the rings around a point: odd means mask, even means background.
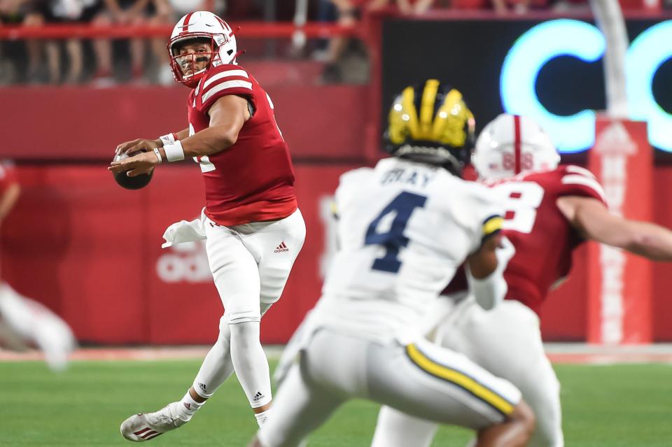
[[[268,360],[259,342],[259,322],[246,321],[229,325],[231,360],[236,376],[252,408],[271,402],[271,379]]]

